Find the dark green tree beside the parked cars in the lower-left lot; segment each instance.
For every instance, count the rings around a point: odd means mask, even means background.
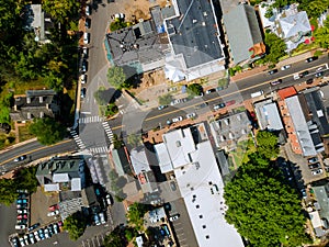
[[[81,212],[76,212],[64,221],[64,229],[68,232],[69,238],[77,240],[83,235],[87,227],[86,217]]]

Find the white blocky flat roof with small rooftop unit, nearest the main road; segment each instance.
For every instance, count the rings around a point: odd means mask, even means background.
[[[163,141],[173,168],[191,162],[188,154],[194,151],[195,146],[190,128],[169,132],[163,135]]]

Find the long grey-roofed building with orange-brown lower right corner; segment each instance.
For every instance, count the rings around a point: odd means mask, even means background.
[[[239,4],[223,15],[223,22],[234,64],[250,63],[265,54],[253,7]]]

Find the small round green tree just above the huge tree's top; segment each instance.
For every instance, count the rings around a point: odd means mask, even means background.
[[[266,131],[260,131],[257,133],[257,150],[260,155],[263,155],[268,159],[276,158],[279,155],[277,137]]]

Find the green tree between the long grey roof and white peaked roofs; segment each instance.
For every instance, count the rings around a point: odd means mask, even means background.
[[[279,58],[286,55],[286,45],[283,40],[277,37],[274,33],[265,33],[265,45],[268,55],[265,61],[276,64]]]

